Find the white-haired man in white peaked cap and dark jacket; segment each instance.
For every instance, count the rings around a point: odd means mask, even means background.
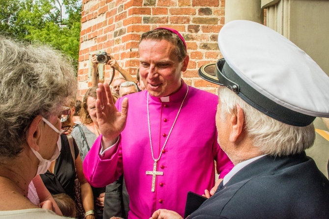
[[[304,152],[314,142],[315,116],[329,117],[328,76],[254,22],[229,22],[218,42],[225,60],[199,75],[221,85],[218,140],[235,166],[188,218],[328,219],[329,181]],[[181,217],[160,209],[152,218]]]

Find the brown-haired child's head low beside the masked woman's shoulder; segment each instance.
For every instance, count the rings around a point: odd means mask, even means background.
[[[63,216],[75,218],[76,217],[76,204],[74,200],[65,193],[53,195],[59,210],[62,212]]]

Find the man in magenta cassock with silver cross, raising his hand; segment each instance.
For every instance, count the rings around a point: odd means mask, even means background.
[[[214,187],[214,160],[220,178],[233,167],[217,143],[218,98],[181,79],[189,55],[176,30],[143,33],[138,52],[146,90],[114,106],[109,85],[98,84],[102,135],[84,160],[84,174],[91,185],[105,186],[124,172],[131,219],[149,218],[159,208],[183,215],[189,191]]]

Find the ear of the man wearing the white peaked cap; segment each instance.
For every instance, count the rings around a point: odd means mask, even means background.
[[[239,104],[236,104],[236,111],[232,113],[230,123],[231,132],[229,140],[235,142],[242,133],[242,128],[245,122],[245,113]]]

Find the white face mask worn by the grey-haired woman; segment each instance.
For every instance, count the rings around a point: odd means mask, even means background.
[[[59,136],[58,136],[57,147],[56,147],[56,149],[55,149],[55,152],[54,152],[52,158],[49,159],[49,160],[45,160],[45,159],[43,159],[43,158],[41,157],[41,155],[40,155],[37,151],[35,151],[33,148],[30,147],[31,150],[32,150],[32,152],[34,153],[34,155],[35,155],[35,156],[38,158],[38,160],[39,160],[38,170],[37,170],[37,173],[36,173],[37,175],[38,175],[38,174],[43,174],[43,173],[47,172],[47,170],[48,170],[50,164],[52,164],[52,162],[55,161],[55,160],[58,158],[58,156],[59,156],[59,154],[60,154],[60,149],[62,148],[62,143],[61,143],[61,140],[60,140],[60,135],[63,133],[63,130],[58,131],[58,130],[56,129],[56,127],[55,127],[52,123],[50,123],[47,119],[45,119],[45,118],[42,118],[42,120],[43,120],[43,121],[44,121],[44,122],[45,122],[50,128],[52,128],[56,133],[58,133]]]

